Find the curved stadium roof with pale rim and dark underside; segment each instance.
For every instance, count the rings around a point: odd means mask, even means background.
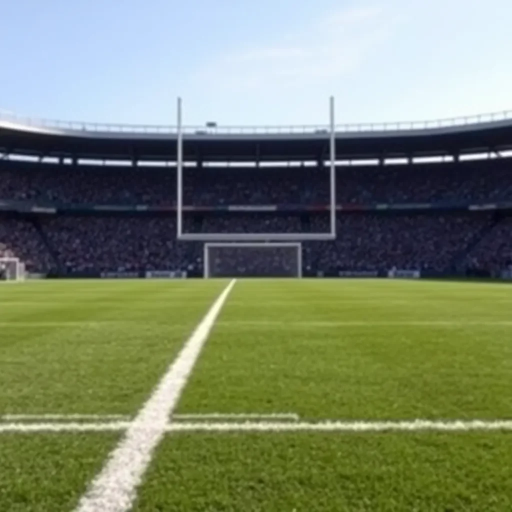
[[[326,158],[327,126],[185,126],[184,159],[254,161]],[[0,118],[4,154],[176,159],[176,127]],[[464,155],[512,150],[512,112],[422,122],[336,127],[336,159]]]

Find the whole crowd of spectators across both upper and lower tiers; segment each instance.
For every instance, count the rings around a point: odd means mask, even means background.
[[[7,160],[0,162],[0,200],[165,206],[175,202],[175,177],[172,167],[59,166]],[[337,170],[336,196],[338,203],[345,204],[512,201],[512,169],[506,159],[345,166]],[[327,169],[185,169],[186,205],[311,206],[328,201]],[[305,273],[386,271],[393,266],[442,272],[464,265],[497,271],[512,257],[512,221],[498,222],[491,212],[338,213],[336,227],[335,241],[303,243]],[[329,216],[306,209],[301,214],[199,211],[185,215],[184,231],[328,232]],[[224,273],[225,265],[245,271],[248,262],[242,252],[232,249],[223,261],[210,264],[219,265]],[[267,267],[284,269],[284,255],[276,252]],[[29,270],[45,272],[203,270],[203,245],[178,242],[172,214],[4,217],[0,218],[3,256],[18,257]],[[251,265],[260,265],[260,259]]]

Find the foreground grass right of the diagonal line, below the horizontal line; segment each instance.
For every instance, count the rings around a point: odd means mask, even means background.
[[[510,434],[180,434],[135,512],[505,512],[510,464]]]

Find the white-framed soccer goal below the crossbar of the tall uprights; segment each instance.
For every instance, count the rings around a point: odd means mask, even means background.
[[[301,278],[300,242],[204,244],[205,278]]]

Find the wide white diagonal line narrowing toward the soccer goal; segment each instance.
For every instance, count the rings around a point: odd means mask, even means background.
[[[236,280],[232,280],[187,340],[150,398],[130,423],[124,438],[109,456],[102,471],[80,499],[75,512],[126,512],[132,508],[137,487],[165,435],[181,392],[201,353],[211,328]]]

